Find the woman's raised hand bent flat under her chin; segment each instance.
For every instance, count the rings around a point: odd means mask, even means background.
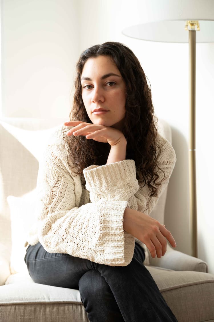
[[[67,132],[67,135],[83,135],[87,139],[93,139],[98,142],[108,143],[110,146],[115,146],[121,142],[126,142],[126,138],[120,130],[107,127],[101,124],[91,124],[82,121],[65,122],[65,126],[73,126]]]

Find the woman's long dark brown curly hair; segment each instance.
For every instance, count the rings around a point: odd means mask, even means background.
[[[126,115],[123,129],[127,139],[126,159],[135,161],[139,185],[144,186],[147,183],[150,196],[157,196],[156,187],[161,184],[158,182],[157,173],[158,169],[161,170],[158,163],[161,148],[155,140],[157,118],[154,115],[151,89],[145,73],[137,57],[127,46],[117,42],[106,42],[81,53],[76,64],[77,76],[70,120],[92,123],[82,100],[81,74],[85,62],[100,55],[107,56],[115,62],[126,84]],[[66,140],[69,144],[68,163],[70,159],[72,164],[69,165],[73,172],[81,175],[82,183],[85,184],[83,169],[90,165],[106,164],[110,145],[93,139],[87,140],[85,136],[70,136],[66,137]]]

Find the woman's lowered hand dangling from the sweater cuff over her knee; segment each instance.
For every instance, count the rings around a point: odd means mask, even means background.
[[[123,227],[126,232],[147,246],[153,258],[156,255],[160,258],[165,254],[166,239],[172,247],[176,247],[175,240],[171,232],[165,228],[165,225],[162,225],[159,221],[139,211],[126,208]]]

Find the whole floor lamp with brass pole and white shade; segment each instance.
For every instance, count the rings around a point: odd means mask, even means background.
[[[151,3],[151,2],[150,2]],[[155,5],[156,3],[156,5]],[[196,200],[196,147],[195,147],[195,83],[196,83],[196,34],[197,42],[214,42],[214,1],[175,2],[153,0],[154,10],[164,6],[164,20],[141,23],[123,29],[126,36],[155,42],[189,42],[189,189],[191,255],[198,257],[197,249],[197,200]],[[139,4],[142,9],[142,3]],[[175,9],[175,8],[174,8]],[[135,8],[139,11],[139,8]],[[168,14],[167,14],[168,11]],[[212,14],[210,14],[212,13]],[[166,19],[167,17],[167,19]],[[171,18],[172,17],[172,18]],[[210,19],[211,17],[211,19]],[[169,18],[169,19],[168,19]],[[189,40],[188,40],[189,33]]]

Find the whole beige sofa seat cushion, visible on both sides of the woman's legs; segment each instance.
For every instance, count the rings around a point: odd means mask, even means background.
[[[214,320],[214,276],[146,266],[179,322]],[[79,290],[33,282],[29,274],[10,275],[0,289],[3,321],[89,321]]]

